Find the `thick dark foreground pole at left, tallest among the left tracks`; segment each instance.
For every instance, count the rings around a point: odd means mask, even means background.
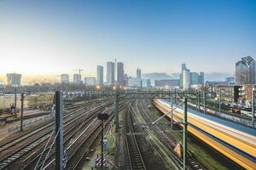
[[[55,169],[63,170],[63,112],[62,92],[55,92]]]

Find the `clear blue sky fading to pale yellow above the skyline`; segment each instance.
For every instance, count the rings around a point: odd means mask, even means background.
[[[233,72],[256,59],[256,1],[0,1],[0,74],[55,74],[117,58],[125,71]]]

